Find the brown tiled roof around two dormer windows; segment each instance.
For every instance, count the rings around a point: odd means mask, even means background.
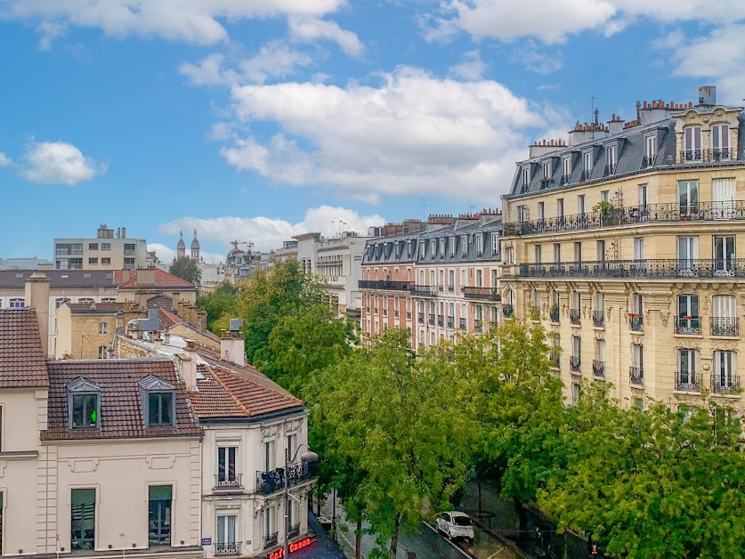
[[[43,441],[89,439],[138,439],[176,435],[199,435],[186,388],[176,377],[169,359],[47,361],[49,369],[48,429]],[[145,428],[138,382],[152,375],[175,386],[176,425]],[[68,428],[67,384],[77,377],[101,387],[101,428]]]

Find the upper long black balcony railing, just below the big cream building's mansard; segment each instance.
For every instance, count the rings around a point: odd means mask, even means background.
[[[616,207],[610,212],[563,215],[532,221],[505,223],[505,237],[557,231],[578,231],[651,222],[745,220],[745,201],[697,202],[693,204],[646,204]]]

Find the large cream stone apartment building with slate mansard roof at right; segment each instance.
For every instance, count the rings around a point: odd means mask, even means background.
[[[569,400],[580,381],[621,401],[710,393],[743,409],[745,117],[717,104],[636,103],[636,119],[530,146],[505,221],[504,310],[542,323]]]

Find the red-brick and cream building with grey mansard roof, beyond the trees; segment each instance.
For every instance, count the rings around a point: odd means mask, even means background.
[[[433,215],[426,229],[368,241],[362,331],[409,328],[412,347],[498,325],[501,213]]]

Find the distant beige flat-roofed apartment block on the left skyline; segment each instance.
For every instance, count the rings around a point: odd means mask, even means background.
[[[136,270],[148,267],[145,239],[127,239],[126,227],[102,224],[95,239],[54,239],[56,270]]]

